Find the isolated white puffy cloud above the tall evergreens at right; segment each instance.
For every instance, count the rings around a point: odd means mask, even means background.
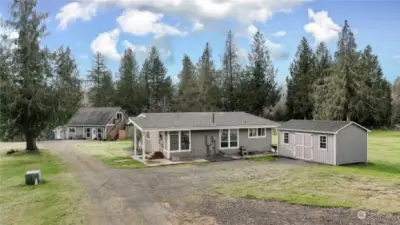
[[[314,37],[316,43],[337,39],[341,28],[329,17],[327,11],[315,13],[308,9],[308,17],[311,22],[304,25],[304,30]]]

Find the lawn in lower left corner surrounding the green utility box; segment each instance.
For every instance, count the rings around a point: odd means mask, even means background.
[[[0,224],[84,224],[84,191],[59,158],[47,150],[0,150]],[[25,186],[25,172],[32,169],[41,170],[44,182]]]

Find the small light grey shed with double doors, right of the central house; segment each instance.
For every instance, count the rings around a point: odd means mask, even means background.
[[[277,130],[279,156],[330,165],[367,162],[370,130],[355,122],[290,120]]]

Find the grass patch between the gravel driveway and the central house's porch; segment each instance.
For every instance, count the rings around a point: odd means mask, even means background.
[[[82,149],[93,157],[103,161],[106,165],[116,168],[142,168],[143,163],[133,160],[132,153],[124,148],[132,146],[132,141],[87,141],[77,143],[76,147]]]

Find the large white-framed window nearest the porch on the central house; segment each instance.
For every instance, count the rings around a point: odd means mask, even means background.
[[[171,152],[191,151],[190,131],[169,131],[168,147]]]

